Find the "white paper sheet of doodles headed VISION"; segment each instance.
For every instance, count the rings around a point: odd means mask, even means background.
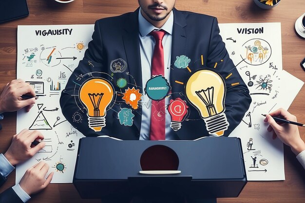
[[[219,24],[230,58],[248,86],[252,103],[240,125],[230,136],[241,138],[247,179],[284,180],[283,144],[267,132],[262,113],[277,104],[280,95],[282,47],[280,23]],[[253,27],[262,32],[239,33]],[[234,40],[234,42],[233,42]]]

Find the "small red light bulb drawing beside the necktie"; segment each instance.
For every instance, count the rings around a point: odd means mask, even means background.
[[[188,113],[188,108],[187,103],[181,98],[171,99],[168,111],[172,117],[171,128],[173,130],[177,131],[181,128],[181,122]]]

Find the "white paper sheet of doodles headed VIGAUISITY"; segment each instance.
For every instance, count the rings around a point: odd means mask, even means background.
[[[38,30],[69,27],[65,36],[37,36]],[[78,140],[83,135],[61,114],[60,92],[77,67],[91,40],[93,25],[45,25],[18,27],[17,77],[29,82],[38,96],[30,112],[17,114],[17,132],[21,129],[39,130],[45,147],[27,162],[17,166],[16,182],[24,172],[40,161],[54,171],[52,183],[72,183]],[[69,35],[71,34],[71,35]],[[23,36],[27,36],[26,38]],[[82,122],[75,113],[76,122]]]

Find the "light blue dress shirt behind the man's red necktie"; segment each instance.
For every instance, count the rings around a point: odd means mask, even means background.
[[[172,54],[172,26],[173,26],[173,12],[170,14],[170,18],[165,22],[161,28],[154,27],[149,21],[147,21],[139,11],[139,38],[140,38],[140,56],[141,56],[141,67],[142,67],[142,88],[151,78],[152,68],[152,55],[155,45],[154,38],[150,35],[153,30],[164,30],[167,33],[163,37],[162,45],[164,50],[164,74],[167,81],[170,83],[170,71],[171,71],[171,54]],[[143,91],[144,92],[144,91]],[[142,104],[142,121],[140,130],[140,140],[150,140],[150,129],[151,129],[151,101],[150,98],[145,94],[141,98]],[[170,98],[165,98],[165,107],[169,105]],[[175,134],[171,129],[171,115],[166,109],[165,115],[165,139],[175,140]]]

